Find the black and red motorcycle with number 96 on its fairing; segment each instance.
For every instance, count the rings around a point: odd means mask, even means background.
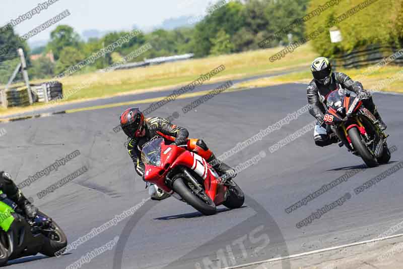
[[[340,146],[360,156],[368,167],[389,162],[388,135],[359,96],[344,89],[334,90],[326,98],[326,108],[324,121],[342,141]]]

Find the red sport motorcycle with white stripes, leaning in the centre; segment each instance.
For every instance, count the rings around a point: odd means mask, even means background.
[[[183,147],[166,145],[163,138],[143,146],[145,180],[205,215],[217,212],[216,206],[239,208],[245,200],[239,186],[224,181],[206,160]]]

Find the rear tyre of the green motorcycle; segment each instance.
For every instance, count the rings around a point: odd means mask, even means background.
[[[47,217],[46,214],[42,212],[39,212],[39,214]],[[49,257],[56,256],[56,253],[58,251],[67,246],[67,237],[63,233],[61,228],[54,221],[52,221],[52,226],[54,228],[54,232],[49,232],[47,235],[44,234],[44,236],[46,237],[45,243],[43,244],[40,251],[40,253]]]

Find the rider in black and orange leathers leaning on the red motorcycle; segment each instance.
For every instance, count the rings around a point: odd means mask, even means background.
[[[143,113],[137,107],[133,107],[121,114],[120,126],[128,136],[127,152],[135,164],[137,174],[143,180],[145,165],[141,159],[142,147],[155,136],[164,138],[166,143],[169,142],[177,146],[184,146],[187,150],[202,156],[213,166],[220,176],[229,175],[230,178],[228,180],[236,176],[236,171],[217,159],[203,140],[189,139],[189,132],[185,128],[173,125],[164,118],[144,118]],[[167,137],[174,138],[175,141],[169,141]],[[169,197],[168,194],[154,185],[150,187],[149,193],[153,200],[162,200]]]

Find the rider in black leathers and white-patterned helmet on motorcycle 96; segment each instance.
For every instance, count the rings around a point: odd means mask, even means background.
[[[316,58],[311,65],[313,80],[307,87],[309,113],[316,118],[317,124],[314,130],[315,144],[321,147],[337,143],[339,140],[332,133],[329,126],[324,123],[325,106],[327,95],[333,90],[347,89],[355,92],[363,101],[364,106],[375,116],[381,130],[386,129],[377,107],[374,104],[371,93],[364,90],[363,85],[353,81],[344,73],[332,72],[331,64],[325,57]]]

